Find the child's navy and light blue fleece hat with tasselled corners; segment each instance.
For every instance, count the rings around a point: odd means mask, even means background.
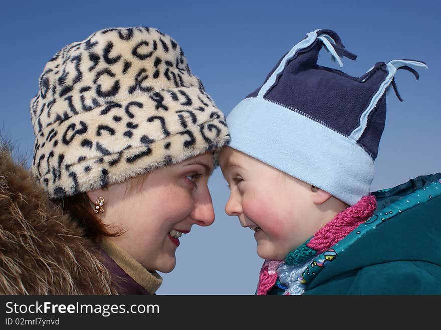
[[[412,67],[426,65],[378,62],[351,77],[317,64],[323,47],[341,66],[340,56],[356,58],[334,31],[308,33],[227,116],[230,147],[354,205],[369,193],[395,72],[418,79]]]

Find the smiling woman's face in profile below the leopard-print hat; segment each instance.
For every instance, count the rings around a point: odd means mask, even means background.
[[[180,233],[214,221],[207,186],[212,170],[213,156],[205,153],[156,169],[143,180],[100,189],[106,196],[104,223],[124,230],[111,239],[148,270],[173,270]]]

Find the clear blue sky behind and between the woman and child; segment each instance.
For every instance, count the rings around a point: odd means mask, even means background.
[[[355,62],[342,70],[361,76],[375,62],[421,60],[420,79],[396,74],[399,102],[387,99],[386,127],[372,190],[441,171],[441,65],[435,1],[8,1],[0,13],[2,80],[0,128],[32,155],[29,102],[46,62],[63,46],[110,27],[154,27],[183,48],[192,72],[228,114],[254,91],[279,58],[316,29],[336,31]],[[336,65],[322,52],[322,65]],[[181,238],[177,265],[162,274],[158,294],[253,294],[262,264],[253,232],[225,215],[227,184],[216,170],[209,182],[215,222]]]

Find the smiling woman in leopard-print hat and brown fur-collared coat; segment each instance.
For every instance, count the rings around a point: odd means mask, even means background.
[[[181,234],[214,221],[230,141],[179,45],[152,28],[64,47],[31,102],[32,175],[0,152],[0,292],[154,294]]]

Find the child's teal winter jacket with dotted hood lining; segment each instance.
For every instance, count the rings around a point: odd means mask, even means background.
[[[333,246],[338,257],[303,294],[441,294],[440,179],[419,176],[373,192],[374,215]],[[283,292],[275,285],[269,294]]]

